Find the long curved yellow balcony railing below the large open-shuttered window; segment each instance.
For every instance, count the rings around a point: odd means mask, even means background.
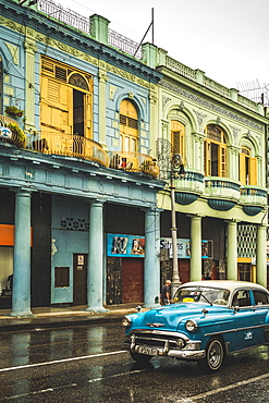
[[[77,134],[42,132],[41,138],[30,136],[28,148],[48,155],[75,157],[109,166],[109,156],[102,146]]]

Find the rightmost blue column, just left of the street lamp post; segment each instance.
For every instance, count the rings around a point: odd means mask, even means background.
[[[145,215],[144,306],[159,305],[160,295],[160,211]]]

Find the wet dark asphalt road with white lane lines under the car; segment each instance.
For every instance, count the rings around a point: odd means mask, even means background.
[[[195,363],[121,351],[119,323],[0,333],[2,402],[269,402],[269,346],[228,357],[203,375]]]

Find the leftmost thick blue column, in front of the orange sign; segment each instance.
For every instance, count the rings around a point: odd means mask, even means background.
[[[11,316],[32,316],[30,312],[30,192],[16,191],[14,270]]]

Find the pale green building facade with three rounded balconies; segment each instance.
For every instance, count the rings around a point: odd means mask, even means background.
[[[186,280],[257,281],[268,286],[266,259],[268,119],[253,102],[156,49],[161,172],[170,152],[181,154],[186,173],[174,180],[178,237],[191,240],[181,254]],[[168,155],[166,155],[166,150]],[[170,190],[159,193],[170,209]],[[162,215],[161,235],[169,236]],[[181,242],[185,247],[187,242]],[[188,255],[188,256],[187,256]],[[171,268],[164,264],[163,270]]]

